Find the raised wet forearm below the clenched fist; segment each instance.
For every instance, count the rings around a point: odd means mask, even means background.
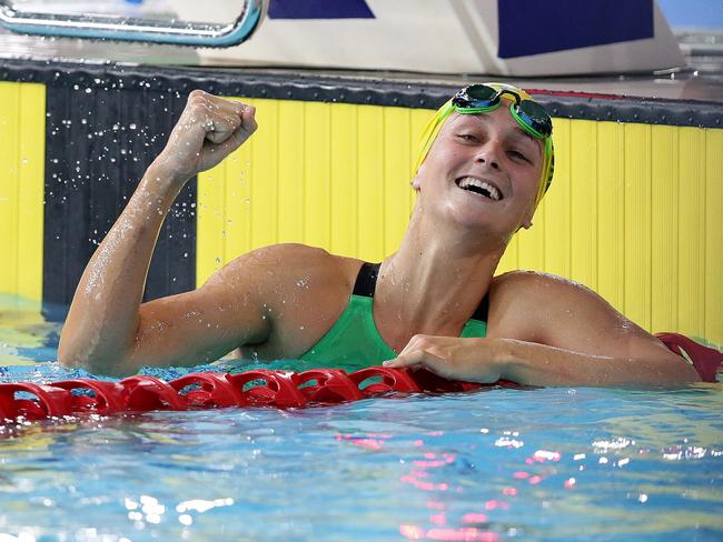
[[[131,349],[158,232],[184,184],[151,164],[86,267],[58,349],[67,365],[110,369]]]

